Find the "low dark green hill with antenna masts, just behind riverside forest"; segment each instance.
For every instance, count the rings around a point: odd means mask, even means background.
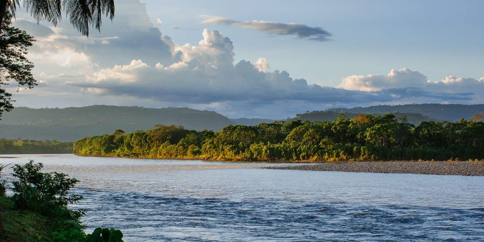
[[[348,110],[348,109],[346,109]],[[346,111],[345,110],[345,111]],[[286,121],[333,121],[335,120],[339,114],[344,114],[348,119],[352,119],[358,117],[362,113],[352,113],[352,112],[338,112],[333,110],[325,110],[325,111],[312,111],[312,112],[305,112],[305,113],[298,113],[296,117],[287,119]],[[372,115],[377,115],[378,113],[372,113]],[[419,125],[422,121],[438,121],[436,119],[432,119],[428,116],[424,116],[418,113],[400,113],[400,112],[392,112],[393,115],[396,117],[405,116],[407,117],[407,121],[415,126]]]

